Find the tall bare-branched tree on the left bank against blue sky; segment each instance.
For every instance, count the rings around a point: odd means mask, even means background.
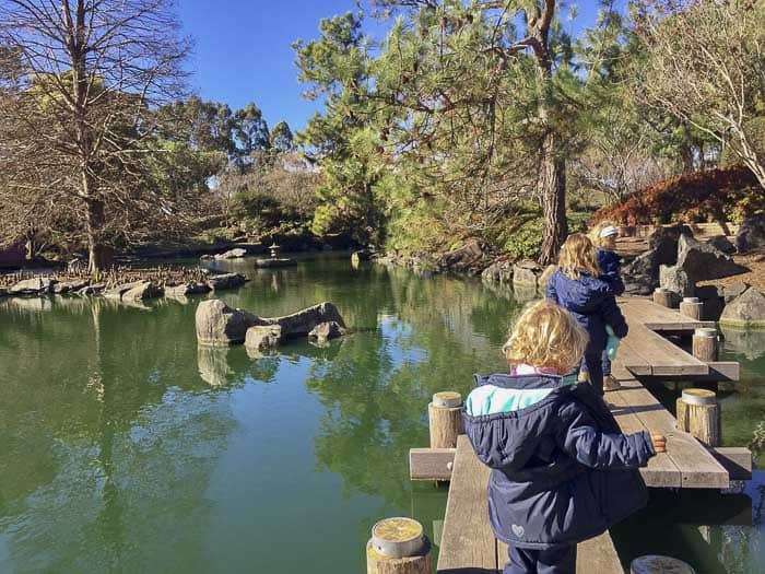
[[[172,0],[0,0],[0,46],[5,234],[63,219],[96,272],[115,237],[180,218],[188,198],[148,184],[153,109],[183,94],[190,46]]]

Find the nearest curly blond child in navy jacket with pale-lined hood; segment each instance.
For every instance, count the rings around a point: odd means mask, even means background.
[[[576,373],[587,333],[541,301],[516,323],[510,375],[478,377],[463,407],[466,433],[492,468],[489,512],[507,542],[505,574],[575,574],[576,544],[643,507],[637,470],[666,440],[621,434],[605,403]]]

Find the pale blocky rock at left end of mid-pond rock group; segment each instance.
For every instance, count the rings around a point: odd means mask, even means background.
[[[263,325],[263,321],[250,313],[232,308],[220,298],[214,298],[199,304],[195,325],[199,344],[225,347],[245,342],[247,329]]]

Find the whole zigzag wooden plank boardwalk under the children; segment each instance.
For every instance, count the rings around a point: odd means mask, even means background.
[[[605,399],[624,433],[649,431],[667,436],[668,452],[655,456],[646,468],[640,469],[646,484],[652,488],[728,488],[728,470],[693,436],[678,431],[674,417],[636,378],[738,378],[738,364],[704,363],[659,335],[682,333],[698,327],[714,327],[715,324],[682,317],[678,312],[642,298],[620,300],[620,306],[629,324],[629,336],[622,342],[612,373],[622,384],[622,389],[609,393]],[[454,460],[449,467],[451,483],[438,573],[501,572],[507,561],[507,548],[494,538],[489,524],[489,468],[475,457],[464,435],[459,436],[456,450],[439,450],[413,449],[410,455],[412,478],[417,478],[415,460],[427,461],[417,470],[419,478],[437,477],[444,472],[444,461],[447,458]],[[578,551],[579,574],[624,572],[608,532],[579,544]]]

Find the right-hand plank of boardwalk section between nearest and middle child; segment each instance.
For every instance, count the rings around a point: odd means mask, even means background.
[[[706,448],[687,433],[675,429],[675,420],[667,409],[639,382],[629,377],[624,367],[615,363],[614,376],[622,389],[608,394],[624,401],[640,420],[646,430],[667,436],[667,455],[681,472],[681,488],[725,489],[730,481],[728,472]],[[657,457],[658,458],[658,457]]]

